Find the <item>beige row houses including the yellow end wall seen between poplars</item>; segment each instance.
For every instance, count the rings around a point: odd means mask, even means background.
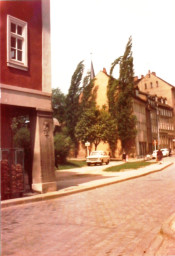
[[[101,108],[108,105],[107,86],[110,76],[106,69],[100,71],[94,80],[96,105]],[[137,118],[137,135],[135,145],[130,150],[130,157],[143,157],[151,154],[158,147],[175,149],[174,109],[172,101],[165,94],[151,95],[142,91],[140,79],[135,78],[135,96],[133,97],[133,114]],[[173,88],[173,87],[171,87]],[[173,90],[172,90],[173,91]],[[168,100],[169,99],[169,100]],[[92,148],[93,149],[93,148]],[[107,143],[100,143],[98,149],[110,152]],[[82,150],[80,150],[82,156]],[[121,142],[116,142],[115,157],[121,158]]]

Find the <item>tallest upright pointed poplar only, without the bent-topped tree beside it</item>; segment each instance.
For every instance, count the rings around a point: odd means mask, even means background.
[[[133,114],[134,69],[132,57],[132,38],[126,45],[120,61],[118,95],[116,101],[118,135],[122,147],[128,151],[136,136],[136,117]]]

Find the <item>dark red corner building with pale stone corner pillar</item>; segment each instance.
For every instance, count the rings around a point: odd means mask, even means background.
[[[0,160],[11,166],[10,152],[18,159],[11,125],[14,117],[25,116],[30,124],[32,189],[55,191],[50,1],[0,1],[0,11]],[[7,166],[1,170],[3,177],[9,177],[6,170]]]

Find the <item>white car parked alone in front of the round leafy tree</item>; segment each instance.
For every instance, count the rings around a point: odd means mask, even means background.
[[[86,158],[87,165],[91,164],[109,164],[110,157],[105,151],[92,151],[90,156]]]

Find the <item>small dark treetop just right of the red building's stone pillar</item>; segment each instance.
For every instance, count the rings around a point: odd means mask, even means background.
[[[66,96],[59,88],[52,90],[53,117],[60,123],[65,121]]]

